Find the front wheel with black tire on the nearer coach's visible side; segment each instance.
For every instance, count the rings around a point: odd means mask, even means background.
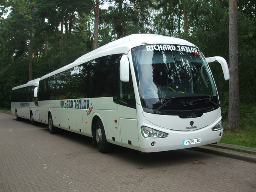
[[[111,144],[106,140],[106,134],[101,120],[96,122],[95,139],[100,152],[106,153],[111,150]]]

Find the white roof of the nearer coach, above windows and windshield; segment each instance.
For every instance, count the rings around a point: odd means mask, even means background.
[[[128,52],[132,48],[143,45],[143,44],[176,44],[176,45],[195,46],[194,44],[186,40],[182,40],[174,37],[155,35],[155,34],[132,34],[124,38],[120,38],[118,40],[110,42],[87,54],[84,54],[80,58],[76,59],[74,62],[60,69],[57,69],[49,74],[42,76],[41,80],[48,78],[54,74],[58,74],[62,71],[73,68],[75,66],[78,66],[82,63],[88,62],[95,58],[99,58],[99,57],[107,56],[111,54],[128,54]]]

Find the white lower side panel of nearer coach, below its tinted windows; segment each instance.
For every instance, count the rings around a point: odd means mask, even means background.
[[[54,126],[92,137],[92,120],[98,116],[108,142],[140,150],[136,109],[115,104],[112,97],[80,100],[89,100],[92,110],[74,108],[74,99],[73,108],[60,108],[60,101],[65,100],[40,101],[40,121],[48,124],[50,112]]]

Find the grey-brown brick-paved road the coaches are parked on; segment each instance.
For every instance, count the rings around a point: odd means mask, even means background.
[[[0,192],[16,191],[256,192],[256,164],[192,150],[101,154],[88,137],[0,112]]]

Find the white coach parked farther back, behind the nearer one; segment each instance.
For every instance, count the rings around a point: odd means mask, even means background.
[[[11,109],[16,120],[30,119],[32,124],[39,122],[38,101],[34,97],[34,90],[38,90],[39,78],[26,84],[12,88]]]

